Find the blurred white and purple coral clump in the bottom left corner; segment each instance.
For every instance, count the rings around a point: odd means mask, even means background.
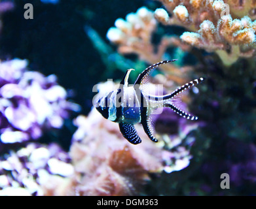
[[[29,143],[0,158],[0,196],[67,195],[70,157],[57,144]]]

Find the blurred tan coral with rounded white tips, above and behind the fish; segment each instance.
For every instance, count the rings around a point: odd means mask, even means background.
[[[156,30],[157,22],[154,13],[145,7],[139,8],[136,13],[128,14],[126,20],[117,19],[115,26],[109,29],[107,38],[118,45],[119,52],[121,54],[135,53],[140,59],[150,64],[166,59],[167,48],[177,44],[177,42],[180,44],[177,39],[168,36],[162,37],[157,47],[153,44],[151,39]],[[184,48],[188,47],[183,44]],[[189,70],[188,67],[178,69],[175,65],[168,63],[160,66],[160,69],[170,74],[172,80],[178,84],[187,81],[184,72]]]

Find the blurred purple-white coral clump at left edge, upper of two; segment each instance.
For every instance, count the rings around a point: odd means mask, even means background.
[[[56,76],[27,71],[27,61],[0,63],[1,142],[14,143],[41,137],[43,130],[59,129],[69,110],[78,106],[66,101],[67,93]]]

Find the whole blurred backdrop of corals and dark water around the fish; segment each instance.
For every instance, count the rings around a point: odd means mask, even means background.
[[[205,2],[0,1],[0,195],[255,195],[256,6]],[[92,89],[164,59],[178,59],[151,78],[165,93],[206,78],[177,104],[199,120],[164,110],[160,142],[138,126],[134,146]]]

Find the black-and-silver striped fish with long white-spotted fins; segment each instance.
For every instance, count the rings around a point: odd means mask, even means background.
[[[149,74],[159,65],[176,61],[177,59],[164,60],[155,63],[145,69],[137,76],[134,85],[128,86],[128,78],[131,71],[128,69],[122,78],[119,88],[110,91],[96,102],[96,109],[107,120],[119,123],[119,129],[122,136],[132,144],[141,143],[141,138],[137,135],[134,124],[141,123],[147,136],[153,141],[158,142],[154,137],[151,114],[153,110],[160,107],[171,108],[188,120],[198,120],[197,116],[193,116],[184,110],[181,110],[172,102],[179,93],[192,88],[202,82],[204,78],[194,79],[191,82],[175,89],[167,95],[150,95],[143,88],[147,83]]]

